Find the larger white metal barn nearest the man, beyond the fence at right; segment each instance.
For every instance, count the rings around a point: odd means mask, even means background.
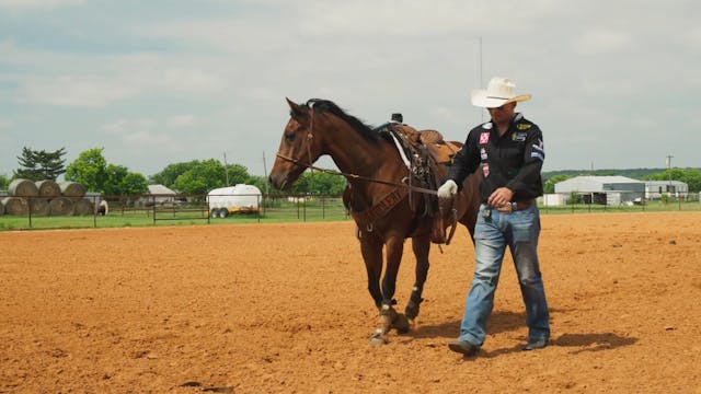
[[[575,176],[555,184],[556,194],[576,194],[585,204],[630,205],[645,196],[645,183],[625,176]]]

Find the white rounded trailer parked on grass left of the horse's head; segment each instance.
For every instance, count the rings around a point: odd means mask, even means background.
[[[207,194],[209,216],[226,218],[231,213],[257,212],[261,207],[261,189],[253,185],[238,184],[212,189]]]

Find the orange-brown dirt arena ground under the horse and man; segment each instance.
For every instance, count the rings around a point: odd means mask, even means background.
[[[415,329],[380,347],[352,222],[2,232],[0,393],[701,393],[700,223],[543,216],[552,343],[520,350],[507,257],[475,359],[446,346],[463,229],[434,247]]]

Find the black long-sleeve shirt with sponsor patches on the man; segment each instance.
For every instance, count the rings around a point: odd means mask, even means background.
[[[518,113],[502,137],[492,121],[470,130],[448,171],[448,178],[462,185],[482,164],[484,179],[480,195],[483,201],[504,186],[514,192],[514,201],[522,201],[543,194],[540,170],[544,159],[540,128]]]

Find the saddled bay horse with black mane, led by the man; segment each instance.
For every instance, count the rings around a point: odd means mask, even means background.
[[[290,118],[268,179],[280,190],[289,189],[307,169],[313,167],[312,164],[325,154],[346,176],[348,184],[344,204],[357,224],[356,235],[367,270],[368,291],[379,310],[378,325],[370,340],[374,345],[386,344],[391,328],[407,332],[418,315],[428,275],[433,227],[432,218],[421,207],[426,198],[437,197],[416,193],[401,182],[410,177],[411,172],[391,137],[379,134],[331,101],[312,99],[306,104],[296,104],[287,99],[287,103]],[[460,193],[453,197],[456,218],[471,235],[481,200],[478,190],[480,179],[481,171],[478,170],[467,177]],[[397,301],[393,297],[407,237],[412,239],[416,257],[415,282],[404,314],[401,314],[394,310]],[[387,265],[380,287],[383,247]]]

